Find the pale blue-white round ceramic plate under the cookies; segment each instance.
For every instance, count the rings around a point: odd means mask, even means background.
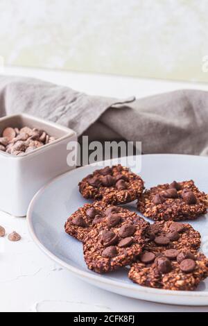
[[[132,283],[128,280],[127,269],[107,275],[98,275],[87,270],[82,244],[64,233],[64,223],[71,213],[87,202],[78,192],[78,182],[94,169],[94,166],[85,166],[66,173],[46,185],[33,198],[27,221],[29,231],[40,249],[77,277],[102,289],[154,302],[208,305],[208,280],[202,282],[197,291],[164,291]],[[207,157],[144,155],[140,174],[146,181],[147,188],[159,183],[192,178],[202,191],[208,193],[207,170]],[[135,203],[128,206],[135,209]],[[202,234],[202,251],[205,254],[208,254],[207,217],[202,216],[191,223]]]

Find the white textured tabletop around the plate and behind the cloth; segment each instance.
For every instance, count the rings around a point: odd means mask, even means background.
[[[172,83],[112,76],[7,68],[4,74],[33,76],[89,94],[138,97],[182,88],[208,90],[208,85]],[[12,200],[12,198],[11,198]],[[0,311],[208,311],[125,298],[86,284],[53,263],[35,246],[25,218],[0,212],[7,234],[16,230],[19,243],[0,239]]]

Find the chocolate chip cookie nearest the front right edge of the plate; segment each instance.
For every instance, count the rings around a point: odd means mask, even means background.
[[[141,286],[193,291],[208,277],[208,259],[202,253],[184,255],[173,249],[159,256],[144,252],[139,261],[132,264],[128,276]]]

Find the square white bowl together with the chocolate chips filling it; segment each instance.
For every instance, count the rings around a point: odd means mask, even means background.
[[[76,132],[28,114],[16,114],[0,119],[0,135],[0,209],[26,216],[40,188],[75,169],[67,145],[77,140]],[[49,135],[55,137],[50,144]]]

